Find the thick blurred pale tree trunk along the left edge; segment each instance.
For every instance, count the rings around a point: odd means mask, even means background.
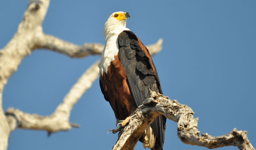
[[[42,32],[42,21],[49,6],[49,0],[29,1],[17,32],[9,43],[1,50],[0,55],[0,149],[8,146],[10,127],[2,108],[2,94],[9,77],[17,70],[24,57],[34,47],[36,33]]]

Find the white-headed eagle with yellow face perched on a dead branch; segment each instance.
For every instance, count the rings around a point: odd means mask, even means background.
[[[101,54],[100,88],[124,127],[137,107],[149,97],[149,90],[163,94],[158,73],[148,49],[128,28],[128,12],[112,13],[103,28],[105,47]],[[127,121],[128,120],[128,121]],[[166,117],[158,116],[139,139],[144,148],[161,150]]]

